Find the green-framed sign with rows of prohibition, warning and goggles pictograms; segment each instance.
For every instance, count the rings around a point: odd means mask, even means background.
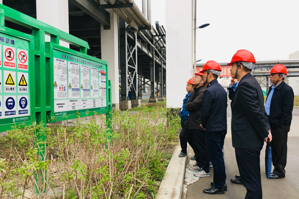
[[[29,42],[0,33],[0,119],[30,120]]]

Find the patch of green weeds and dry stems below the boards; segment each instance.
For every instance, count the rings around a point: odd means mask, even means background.
[[[13,126],[0,138],[0,198],[153,198],[171,158],[164,150],[180,128],[166,112],[114,112],[110,134],[105,115],[73,126]]]

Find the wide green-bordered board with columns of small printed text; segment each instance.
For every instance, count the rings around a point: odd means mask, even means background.
[[[54,49],[53,64],[55,116],[107,109],[105,64],[58,49]]]

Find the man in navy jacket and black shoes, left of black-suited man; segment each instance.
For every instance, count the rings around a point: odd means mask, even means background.
[[[203,80],[207,83],[204,91],[201,124],[205,129],[205,137],[208,155],[213,165],[214,178],[212,187],[204,189],[207,194],[223,194],[227,190],[225,183],[226,173],[222,148],[227,133],[227,93],[218,83],[217,78],[221,75],[221,67],[215,61],[208,61],[203,66]]]

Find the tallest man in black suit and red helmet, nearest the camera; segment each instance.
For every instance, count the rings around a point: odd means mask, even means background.
[[[255,59],[252,53],[239,50],[233,56],[231,75],[239,83],[231,102],[232,142],[243,186],[245,199],[262,199],[260,154],[272,135],[264,107],[264,95],[258,81],[250,74]]]

